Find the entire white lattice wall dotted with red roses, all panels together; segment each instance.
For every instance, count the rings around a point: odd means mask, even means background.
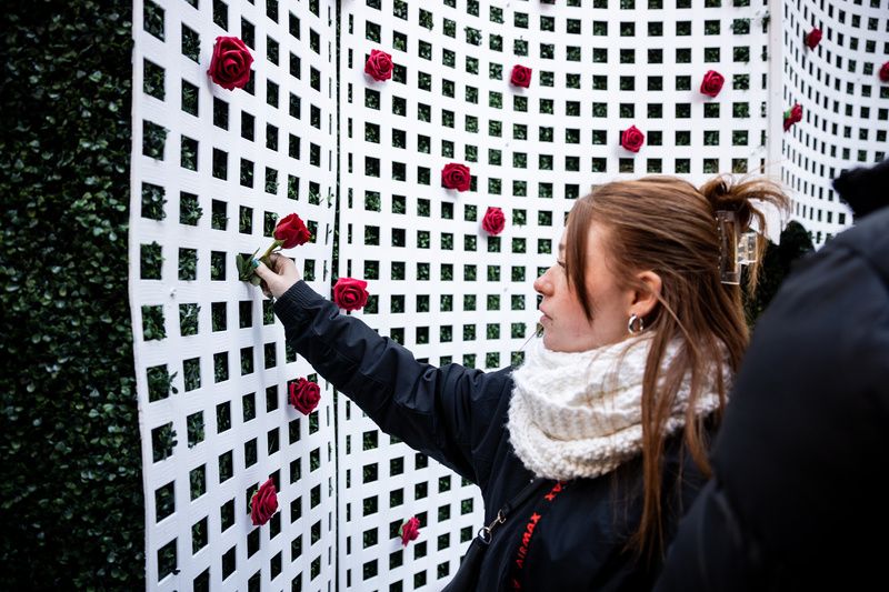
[[[826,235],[850,221],[821,203],[838,171],[820,168],[883,155],[886,86],[865,88],[887,53],[886,11],[800,7],[367,0],[337,14],[320,0],[138,1],[130,260],[149,588],[438,590],[481,523],[473,486],[344,398],[334,405],[323,381],[311,418],[288,407],[287,381],[313,370],[234,269],[237,253],[269,243],[274,214],[311,222],[316,241],[292,254],[327,295],[339,195],[338,272],[372,294],[356,314],[433,364],[501,368],[535,330],[531,282],[591,185],[659,172],[699,184],[775,164],[782,147],[796,214],[809,225],[823,211]],[[820,66],[801,49],[812,22],[826,32]],[[247,90],[206,74],[220,34],[251,48]],[[392,54],[392,80],[363,73],[372,49]],[[533,69],[528,89],[509,84],[517,63]],[[726,78],[715,99],[698,91],[711,69]],[[836,80],[845,101],[828,92]],[[798,98],[870,124],[809,107],[779,144]],[[850,137],[833,138],[835,123]],[[646,133],[636,154],[619,146],[629,126]],[[471,169],[470,191],[440,187],[448,162]],[[480,227],[489,205],[507,217],[497,238]],[[249,493],[269,475],[281,510],[253,529]],[[402,549],[411,515],[423,529]]]

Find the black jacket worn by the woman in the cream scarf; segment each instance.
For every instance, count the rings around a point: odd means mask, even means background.
[[[511,369],[485,373],[457,364],[434,368],[361,321],[340,314],[300,281],[274,304],[287,340],[338,390],[351,398],[387,433],[396,435],[481,488],[486,523],[533,476],[509,443],[506,422],[512,393]],[[665,483],[677,482],[680,445],[669,443]],[[681,488],[663,495],[667,536],[688,508],[702,476],[683,459]],[[512,513],[495,534],[476,589],[569,592],[646,590],[660,561],[646,565],[625,545],[639,520],[639,460],[610,475],[551,488]],[[386,475],[381,475],[386,476]],[[555,485],[555,482],[552,483]],[[539,515],[532,520],[533,515]],[[533,522],[520,571],[522,534]],[[479,524],[481,526],[481,524]],[[456,568],[456,566],[455,566]]]

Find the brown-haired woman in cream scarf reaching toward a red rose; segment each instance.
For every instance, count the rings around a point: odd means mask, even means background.
[[[520,368],[491,373],[417,362],[340,315],[286,258],[257,273],[319,373],[383,431],[477,483],[486,523],[515,505],[466,589],[648,589],[709,474],[747,345],[740,288],[720,277],[717,212],[762,228],[751,200],[787,199],[762,180],[698,190],[650,177],[578,200],[557,263],[535,281],[542,340]],[[513,503],[533,478],[540,489]]]

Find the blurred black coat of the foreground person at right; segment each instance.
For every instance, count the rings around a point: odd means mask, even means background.
[[[889,208],[785,281],[712,463],[658,590],[886,589]]]

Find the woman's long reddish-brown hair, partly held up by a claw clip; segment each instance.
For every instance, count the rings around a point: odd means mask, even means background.
[[[653,341],[642,379],[642,515],[631,540],[631,546],[649,558],[663,552],[665,427],[688,374],[685,445],[703,474],[710,474],[705,418],[696,417],[696,401],[715,372],[720,401],[716,418],[721,415],[727,395],[723,364],[737,372],[749,339],[741,288],[720,280],[716,211],[737,212],[740,230],[756,220],[765,231],[766,220],[755,200],[781,210],[788,207],[780,187],[765,179],[736,182],[721,175],[697,189],[678,178],[655,175],[597,187],[578,200],[568,217],[566,272],[589,320],[596,308],[586,289],[587,237],[592,222],[605,232],[606,261],[622,287],[647,290],[636,279],[640,271],[651,270],[661,279],[659,305],[645,318]],[[759,260],[765,250],[761,238],[757,250]],[[757,269],[756,263],[748,268],[748,290],[756,288]],[[666,348],[677,339],[681,347],[665,368]]]

